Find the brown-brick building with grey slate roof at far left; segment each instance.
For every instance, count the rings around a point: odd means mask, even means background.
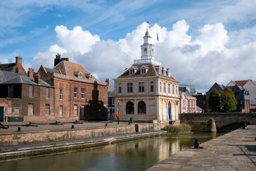
[[[0,121],[8,116],[23,116],[24,121],[54,117],[54,87],[32,69],[28,76],[0,71]]]

